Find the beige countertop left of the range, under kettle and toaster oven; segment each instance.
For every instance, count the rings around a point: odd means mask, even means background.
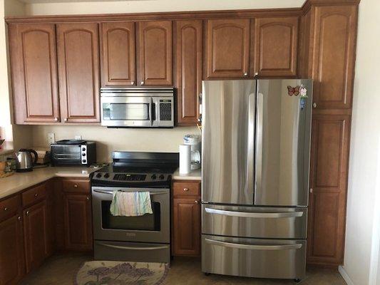
[[[93,167],[44,167],[31,172],[16,172],[9,177],[0,178],[0,199],[53,177],[89,177]]]

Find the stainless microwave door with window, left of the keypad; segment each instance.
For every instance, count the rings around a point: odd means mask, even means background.
[[[155,108],[151,97],[101,97],[101,125],[108,127],[152,127]]]

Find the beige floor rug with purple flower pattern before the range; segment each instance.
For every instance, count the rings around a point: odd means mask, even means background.
[[[88,261],[76,274],[77,285],[159,285],[168,266],[153,262]]]

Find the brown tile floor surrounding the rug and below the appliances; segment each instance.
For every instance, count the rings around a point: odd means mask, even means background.
[[[91,256],[58,254],[49,258],[39,269],[29,274],[22,285],[73,285],[76,272]],[[200,271],[200,259],[175,258],[163,285],[282,285],[295,284],[292,280],[237,278],[232,276],[205,276]],[[312,268],[302,285],[346,285],[342,276],[332,269]]]

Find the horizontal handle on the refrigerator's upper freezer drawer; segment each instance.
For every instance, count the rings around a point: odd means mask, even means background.
[[[227,211],[225,209],[211,209],[205,208],[205,211],[210,214],[222,214],[225,216],[232,217],[246,217],[246,218],[296,218],[302,217],[304,212],[236,212],[236,211]]]

